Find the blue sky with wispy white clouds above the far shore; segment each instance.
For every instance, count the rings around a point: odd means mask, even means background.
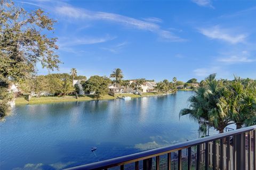
[[[256,79],[256,1],[18,1],[57,20],[60,72]],[[49,35],[52,36],[52,35]],[[38,69],[39,74],[47,71]]]

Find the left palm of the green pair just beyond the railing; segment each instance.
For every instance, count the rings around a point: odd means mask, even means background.
[[[223,133],[231,121],[227,100],[230,91],[223,86],[222,80],[215,79],[215,75],[209,75],[205,79],[206,85],[195,90],[195,95],[188,99],[190,108],[182,109],[180,116],[190,115],[199,124],[207,124]]]

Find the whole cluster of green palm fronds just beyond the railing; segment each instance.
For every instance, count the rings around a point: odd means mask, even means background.
[[[253,122],[256,120],[256,88],[253,80],[216,80],[215,74],[211,74],[188,101],[190,108],[182,109],[180,116],[188,114],[200,124],[212,126],[220,133],[231,121],[236,123],[237,129],[256,123]]]

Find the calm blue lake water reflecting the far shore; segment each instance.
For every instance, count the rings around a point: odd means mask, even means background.
[[[192,94],[15,106],[0,122],[0,167],[61,169],[196,139],[198,124],[179,119]]]

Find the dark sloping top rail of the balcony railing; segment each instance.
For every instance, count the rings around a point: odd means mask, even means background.
[[[195,140],[191,140],[191,141],[187,141],[187,142],[182,142],[182,143],[178,143],[178,144],[172,145],[172,146],[147,150],[147,151],[138,152],[138,153],[132,154],[132,155],[103,160],[101,162],[76,166],[76,167],[68,168],[68,170],[71,170],[71,169],[105,169],[105,168],[110,168],[110,167],[114,167],[114,166],[129,164],[129,163],[136,162],[139,160],[167,154],[167,153],[174,152],[174,151],[181,150],[181,149],[186,149],[188,147],[196,146],[196,145],[199,145],[204,142],[210,142],[210,141],[218,140],[221,138],[230,137],[230,136],[233,136],[236,134],[241,134],[241,133],[252,131],[255,129],[256,129],[256,125],[250,126],[247,128],[230,131],[230,132],[220,133],[220,134],[213,135],[210,137],[205,137],[205,138],[195,139]]]

